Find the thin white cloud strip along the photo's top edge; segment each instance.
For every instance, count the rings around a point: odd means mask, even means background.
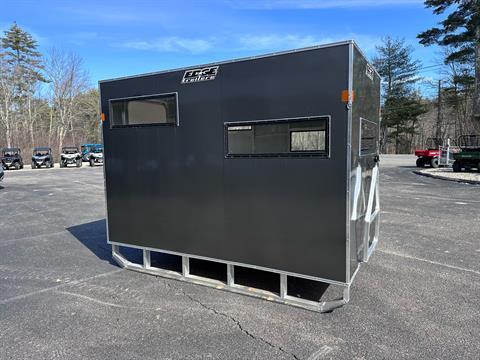
[[[234,8],[240,9],[329,9],[354,7],[380,7],[423,5],[423,0],[229,0]]]

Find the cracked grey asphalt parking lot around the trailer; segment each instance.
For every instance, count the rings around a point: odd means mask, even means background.
[[[0,359],[478,359],[480,186],[381,160],[381,237],[319,314],[122,270],[101,167],[0,183]]]

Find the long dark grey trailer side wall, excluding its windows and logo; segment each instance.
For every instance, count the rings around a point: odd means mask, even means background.
[[[109,241],[347,281],[349,44],[184,72],[100,83]],[[112,126],[110,100],[172,93],[178,124]],[[226,123],[317,116],[328,156],[227,156]]]

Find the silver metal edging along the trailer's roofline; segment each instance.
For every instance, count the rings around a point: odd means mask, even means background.
[[[185,70],[189,70],[189,69],[191,69],[192,67],[207,67],[207,66],[215,66],[215,65],[229,64],[229,63],[234,63],[234,62],[249,61],[249,60],[261,59],[261,58],[266,58],[266,57],[272,57],[272,56],[278,56],[278,55],[286,55],[286,54],[291,54],[291,53],[311,51],[311,50],[317,50],[317,49],[328,48],[328,47],[335,47],[335,46],[342,46],[342,45],[348,45],[348,44],[353,44],[353,45],[357,48],[357,50],[360,52],[360,54],[362,54],[362,56],[363,56],[365,59],[367,59],[367,61],[368,61],[368,58],[365,56],[365,54],[362,52],[362,50],[361,50],[360,47],[355,43],[354,40],[345,40],[345,41],[338,41],[338,42],[329,43],[329,44],[314,45],[314,46],[308,46],[308,47],[303,47],[303,48],[299,48],[299,49],[293,49],[293,50],[286,50],[286,51],[279,51],[279,52],[267,53],[267,54],[263,54],[263,55],[243,57],[243,58],[238,58],[238,59],[233,59],[233,60],[217,61],[217,62],[212,62],[212,63],[207,63],[207,64],[194,64],[194,65],[184,66],[184,67],[176,68],[176,69],[169,69],[169,70],[162,70],[162,71],[154,71],[154,72],[143,73],[143,74],[138,74],[138,75],[122,76],[122,77],[118,77],[118,78],[100,80],[98,83],[101,84],[101,83],[112,82],[112,81],[117,81],[117,80],[126,80],[126,79],[132,79],[132,78],[143,77],[143,76],[166,74],[166,73],[175,72],[175,71],[185,71]],[[380,75],[378,74],[378,71],[377,71],[375,68],[373,68],[373,69],[374,69],[375,73],[380,77]]]

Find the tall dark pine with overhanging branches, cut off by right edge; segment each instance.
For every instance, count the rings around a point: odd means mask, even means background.
[[[426,0],[425,5],[433,13],[441,15],[452,11],[434,27],[418,35],[420,43],[429,46],[437,44],[454,48],[445,63],[458,62],[474,64],[473,117],[480,122],[480,1],[479,0]],[[464,79],[467,83],[471,79]]]

